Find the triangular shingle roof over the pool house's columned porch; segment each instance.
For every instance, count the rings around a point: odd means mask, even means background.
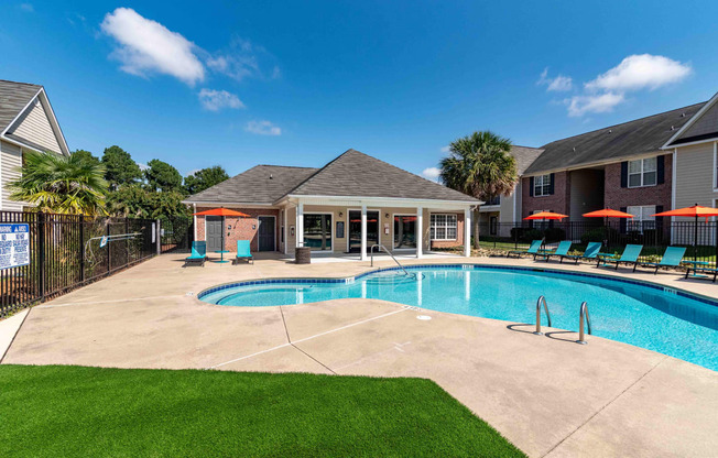
[[[298,196],[395,197],[478,203],[376,157],[348,150],[293,189]]]

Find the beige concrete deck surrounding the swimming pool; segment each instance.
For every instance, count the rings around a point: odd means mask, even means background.
[[[534,336],[533,325],[384,301],[257,308],[204,304],[194,295],[220,283],[349,276],[371,268],[369,262],[295,265],[270,257],[254,265],[208,262],[182,269],[184,255],[155,258],[35,306],[2,363],[423,377],[530,456],[718,455],[718,372],[709,369],[598,337],[588,336],[589,345],[581,346],[575,332],[546,328],[546,336]],[[617,273],[595,264],[502,258],[402,262],[603,273],[718,297],[718,284],[709,281]]]

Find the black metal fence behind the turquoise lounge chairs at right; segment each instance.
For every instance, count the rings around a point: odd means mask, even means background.
[[[716,265],[718,223],[704,218],[695,221],[522,221],[480,222],[481,248],[508,251],[526,249],[532,240],[544,239],[548,247],[562,240],[573,242],[572,250],[583,252],[589,242],[601,242],[602,252],[620,254],[627,244],[642,244],[640,261],[661,259],[666,247],[686,247],[686,260]]]

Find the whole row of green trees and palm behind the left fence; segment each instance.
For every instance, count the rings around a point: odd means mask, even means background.
[[[153,159],[141,168],[120,146],[97,157],[86,150],[69,156],[25,152],[21,176],[8,184],[10,198],[33,210],[130,218],[188,216],[182,200],[229,178],[219,165],[187,176]]]

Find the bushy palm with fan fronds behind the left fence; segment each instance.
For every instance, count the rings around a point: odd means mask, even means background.
[[[21,176],[8,183],[10,199],[28,203],[35,211],[107,215],[105,166],[80,154],[26,152]]]

